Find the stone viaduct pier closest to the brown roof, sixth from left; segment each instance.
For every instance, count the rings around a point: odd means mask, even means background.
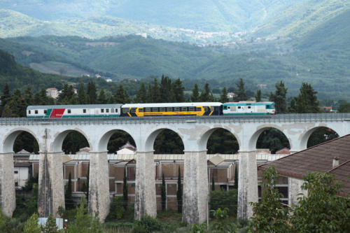
[[[258,202],[258,171],[255,151],[239,152],[237,218],[253,216],[250,202]]]

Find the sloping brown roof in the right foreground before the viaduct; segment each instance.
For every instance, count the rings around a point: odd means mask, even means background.
[[[274,165],[279,174],[302,178],[305,174],[313,171],[325,172],[333,170],[333,157],[338,157],[339,163],[342,164],[342,166],[349,166],[350,134],[282,157],[279,160],[262,164],[259,166],[259,169],[265,169],[266,167]],[[350,176],[350,169],[346,170],[344,167],[334,172],[342,172],[342,174],[338,174],[338,176]],[[342,181],[346,180],[342,179]],[[347,183],[344,183],[344,185],[350,185],[349,180],[346,182]]]

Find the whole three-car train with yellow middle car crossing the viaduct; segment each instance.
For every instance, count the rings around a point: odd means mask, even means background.
[[[274,102],[270,101],[84,104],[27,107],[27,118],[134,118],[177,115],[272,115],[274,113]]]

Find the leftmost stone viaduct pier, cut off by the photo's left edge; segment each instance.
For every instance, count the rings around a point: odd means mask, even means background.
[[[13,153],[0,153],[0,196],[2,213],[11,217],[16,208]]]

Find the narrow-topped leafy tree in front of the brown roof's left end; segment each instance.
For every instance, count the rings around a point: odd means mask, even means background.
[[[251,203],[253,217],[251,228],[254,232],[288,232],[288,208],[281,205],[281,193],[274,188],[279,177],[274,167],[268,167],[262,174],[263,183],[260,202]]]

